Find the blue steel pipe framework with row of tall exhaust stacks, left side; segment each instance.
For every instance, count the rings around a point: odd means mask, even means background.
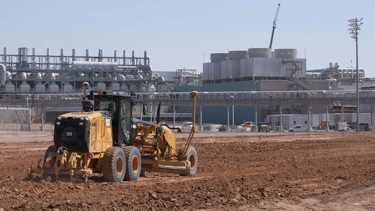
[[[97,56],[71,56],[60,49],[60,55],[37,54],[36,48],[18,48],[18,54],[0,55],[0,93],[80,93],[82,82],[87,81],[93,90],[124,92],[171,92],[173,86],[199,84],[201,75],[195,70],[178,69],[175,72],[153,71],[147,51],[144,57],[103,56],[99,49]]]

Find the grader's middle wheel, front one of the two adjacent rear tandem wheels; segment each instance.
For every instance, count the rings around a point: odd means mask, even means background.
[[[141,154],[135,146],[126,146],[122,150],[126,158],[124,181],[137,180],[141,173]]]

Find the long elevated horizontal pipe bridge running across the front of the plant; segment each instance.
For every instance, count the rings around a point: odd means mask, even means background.
[[[135,93],[136,101],[150,105],[186,106],[190,92]],[[81,94],[1,94],[0,104],[26,104],[61,107],[81,104]],[[356,105],[356,91],[274,91],[274,92],[198,92],[196,105]],[[361,90],[360,104],[374,104],[375,91]]]

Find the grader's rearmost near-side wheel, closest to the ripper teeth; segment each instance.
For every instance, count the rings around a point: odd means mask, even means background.
[[[119,147],[108,148],[103,157],[103,177],[107,182],[121,182],[125,176],[125,155]]]

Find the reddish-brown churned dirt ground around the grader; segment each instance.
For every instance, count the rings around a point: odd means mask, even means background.
[[[178,134],[182,145],[188,134]],[[0,136],[7,210],[375,210],[375,133],[197,133],[195,176],[24,181],[50,134]]]

